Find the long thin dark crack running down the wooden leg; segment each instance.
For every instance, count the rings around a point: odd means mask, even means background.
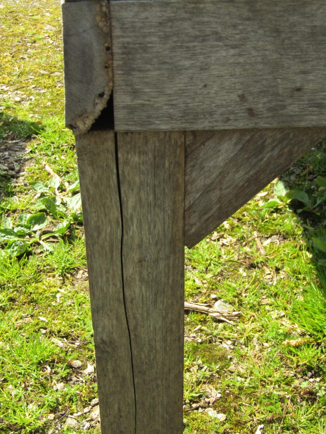
[[[133,369],[133,349],[131,345],[131,334],[130,327],[128,321],[128,314],[126,308],[126,296],[125,296],[125,288],[124,288],[124,277],[123,277],[123,210],[122,210],[122,197],[121,197],[121,184],[120,184],[120,172],[119,172],[119,154],[118,154],[118,137],[117,133],[114,135],[115,137],[115,154],[116,154],[116,179],[118,184],[118,193],[119,193],[119,203],[120,203],[120,216],[121,216],[121,248],[120,248],[120,259],[121,259],[121,277],[122,277],[122,292],[123,292],[123,306],[124,312],[126,315],[126,323],[129,335],[129,344],[130,344],[130,357],[131,357],[131,369],[133,372],[133,393],[135,398],[135,434],[136,434],[136,421],[137,421],[137,403],[136,403],[136,386],[135,386],[135,376]]]

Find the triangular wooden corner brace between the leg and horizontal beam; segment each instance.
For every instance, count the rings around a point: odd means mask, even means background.
[[[326,128],[186,132],[186,246],[206,237],[325,135]]]

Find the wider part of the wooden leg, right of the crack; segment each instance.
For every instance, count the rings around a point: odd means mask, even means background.
[[[183,424],[184,135],[117,135],[136,434]]]

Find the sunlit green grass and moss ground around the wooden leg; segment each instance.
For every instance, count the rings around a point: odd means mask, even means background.
[[[37,202],[78,193],[71,132],[63,119],[63,54],[60,2],[3,0],[0,53],[0,145],[11,142],[22,155],[20,174],[0,173],[0,226],[13,226],[22,213],[38,212]],[[280,179],[306,192],[311,204],[325,188],[326,142],[316,145]],[[48,185],[45,161],[63,180],[58,195],[37,193]],[[196,312],[185,315],[184,434],[326,432],[326,266],[325,206],[310,210],[286,196],[279,205],[275,182],[193,249],[186,249],[185,294],[195,302],[224,299],[240,311],[235,324]],[[41,212],[47,237],[59,220]],[[83,226],[50,239],[53,251],[35,241],[23,255],[0,249],[0,432],[83,433],[90,413],[79,414],[97,397],[93,329]],[[37,232],[37,234],[36,234]],[[257,238],[263,244],[262,254]],[[46,239],[46,238],[44,238]],[[212,298],[215,297],[214,299]],[[79,360],[80,368],[72,362]],[[58,387],[59,385],[59,387]],[[219,421],[205,411],[226,415]],[[158,403],[159,404],[159,403]],[[75,416],[79,427],[66,425]],[[54,431],[52,431],[54,430]],[[94,422],[88,432],[99,433]]]

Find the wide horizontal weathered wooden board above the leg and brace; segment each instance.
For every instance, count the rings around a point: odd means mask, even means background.
[[[117,131],[325,125],[325,1],[113,1],[110,13]]]

